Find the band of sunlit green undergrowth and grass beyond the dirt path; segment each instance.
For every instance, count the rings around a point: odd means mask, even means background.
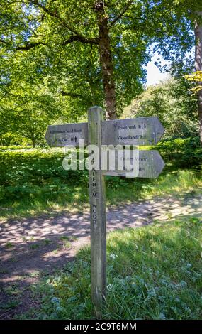
[[[190,164],[190,159],[182,154],[183,148],[175,143],[171,156],[170,144],[166,144],[157,146],[166,162],[159,178],[106,177],[108,205],[130,203],[139,198],[153,196],[179,196],[183,192],[196,189],[201,191],[200,166],[196,168],[194,165],[201,154],[201,151],[198,153],[200,149],[193,148],[194,168],[190,169],[184,167],[184,160]],[[195,160],[193,153],[197,156]],[[0,151],[0,219],[44,213],[50,215],[50,212],[54,214],[63,210],[83,212],[89,208],[88,172],[64,171],[63,158],[61,149]],[[179,168],[181,161],[183,169]]]

